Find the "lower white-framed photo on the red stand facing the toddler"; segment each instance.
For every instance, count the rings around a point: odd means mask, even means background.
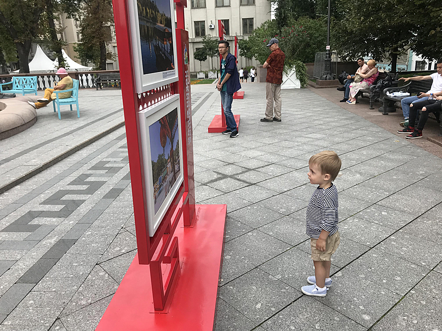
[[[180,97],[173,95],[138,112],[149,235],[153,236],[183,175]]]

